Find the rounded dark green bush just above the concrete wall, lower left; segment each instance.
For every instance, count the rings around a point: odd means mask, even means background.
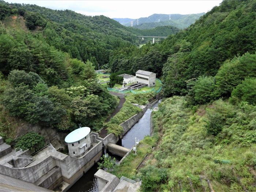
[[[44,136],[41,136],[36,132],[29,132],[18,138],[16,142],[15,148],[21,148],[22,150],[32,150],[34,148],[35,151],[38,151],[45,146]]]

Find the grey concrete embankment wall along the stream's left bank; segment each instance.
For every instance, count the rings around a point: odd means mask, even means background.
[[[143,116],[148,108],[151,108],[151,104],[146,105],[142,112],[121,124],[124,128],[121,137]],[[16,168],[0,165],[1,174],[48,189],[54,189],[57,185],[62,184],[65,185],[62,191],[67,191],[95,162],[99,161],[102,156],[102,146],[108,147],[109,143],[115,144],[120,138],[114,134],[100,138],[98,133],[91,132],[90,139],[93,143],[92,146],[87,153],[79,158],[49,150],[47,155],[36,159],[26,167]]]

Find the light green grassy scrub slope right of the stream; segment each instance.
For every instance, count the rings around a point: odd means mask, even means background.
[[[182,191],[191,191],[187,180],[190,177],[195,190],[202,191],[199,175],[204,175],[215,191],[240,192],[243,189],[231,169],[234,167],[248,191],[256,191],[255,180],[248,170],[248,166],[256,165],[255,112],[256,107],[247,103],[231,106],[219,99],[206,107],[205,114],[198,115],[186,108],[184,97],[165,99],[154,114],[163,135],[153,158],[148,159],[145,169],[136,176],[143,178],[141,190],[179,191],[181,181]],[[211,113],[220,113],[222,121],[211,119]],[[222,127],[215,136],[207,131],[209,121],[213,127],[215,124]],[[157,188],[154,178],[147,177],[147,170],[152,167],[155,173],[150,174],[165,178]]]

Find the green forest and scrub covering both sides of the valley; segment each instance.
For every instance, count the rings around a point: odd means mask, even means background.
[[[152,44],[138,35],[168,37]],[[191,191],[188,179],[203,191],[200,176],[216,191],[256,191],[249,171],[256,167],[256,0],[223,0],[183,30],[140,30],[103,15],[0,1],[0,136],[21,147],[29,139],[16,139],[19,121],[99,130],[118,105],[98,83],[99,68],[151,71],[163,83],[153,136],[138,149],[151,158],[136,173],[131,155],[114,174],[142,178],[142,191]],[[138,113],[131,103],[145,98],[131,96],[122,113]]]

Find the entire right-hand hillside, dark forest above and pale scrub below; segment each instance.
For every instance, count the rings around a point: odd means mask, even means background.
[[[153,136],[137,149],[146,160],[125,176],[145,192],[256,191],[256,1],[224,0],[161,43],[119,53],[112,70],[163,67],[164,82]]]

